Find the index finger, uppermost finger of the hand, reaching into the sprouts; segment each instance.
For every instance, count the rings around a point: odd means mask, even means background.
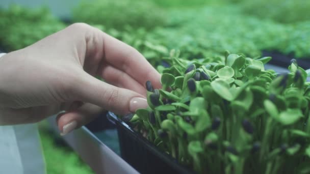
[[[114,67],[126,72],[141,85],[150,80],[154,88],[161,88],[160,74],[135,48],[107,35],[104,36],[105,60]]]

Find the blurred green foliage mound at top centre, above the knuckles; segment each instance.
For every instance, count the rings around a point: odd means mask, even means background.
[[[117,30],[123,30],[127,26],[152,29],[164,25],[165,18],[165,11],[150,1],[82,1],[73,9],[74,21],[101,24]]]

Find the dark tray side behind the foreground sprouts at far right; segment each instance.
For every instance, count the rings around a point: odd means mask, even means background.
[[[277,65],[283,68],[288,68],[291,65],[290,61],[292,59],[296,59],[293,53],[286,55],[286,54],[280,53],[279,51],[264,50],[262,51],[262,56],[271,56],[272,60],[269,62],[269,64]],[[301,68],[305,70],[310,69],[310,57],[308,58],[302,57],[296,60],[297,60],[298,66],[300,66]]]

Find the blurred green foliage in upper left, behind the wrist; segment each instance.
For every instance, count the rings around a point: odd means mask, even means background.
[[[33,10],[12,5],[0,9],[0,18],[0,41],[6,51],[29,46],[65,27],[47,8]]]

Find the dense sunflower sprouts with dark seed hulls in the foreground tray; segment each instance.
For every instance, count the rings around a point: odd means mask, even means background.
[[[161,79],[169,90],[149,91],[157,106],[129,120],[138,132],[198,173],[308,171],[310,84],[295,60],[279,75],[264,68],[270,57],[185,61],[173,52]]]

